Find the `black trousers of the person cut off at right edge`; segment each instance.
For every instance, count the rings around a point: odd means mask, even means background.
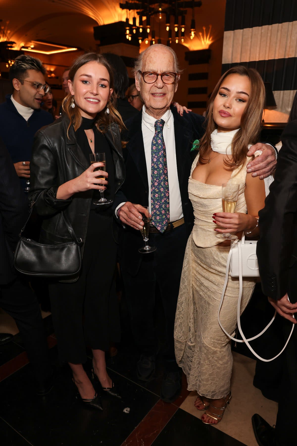
[[[289,272],[289,300],[297,301],[297,263]],[[297,318],[297,314],[295,314]],[[283,336],[288,339],[292,323],[283,319]],[[294,327],[291,339],[281,355],[283,375],[280,383],[280,394],[275,434],[281,446],[296,444],[296,426],[294,416],[297,413],[297,327]]]

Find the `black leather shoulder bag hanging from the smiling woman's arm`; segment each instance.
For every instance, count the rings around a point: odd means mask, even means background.
[[[81,269],[79,247],[83,242],[81,239],[77,240],[73,228],[63,212],[61,212],[62,217],[73,242],[56,245],[41,244],[21,236],[30,219],[34,204],[33,201],[28,219],[20,231],[20,240],[14,255],[14,267],[20,273],[39,277],[67,277],[79,273]]]

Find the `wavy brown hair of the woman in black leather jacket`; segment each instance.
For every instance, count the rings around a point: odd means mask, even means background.
[[[71,80],[71,82],[73,82],[73,78],[77,72],[77,70],[79,70],[79,68],[81,68],[81,66],[85,65],[86,63],[89,62],[98,62],[101,65],[106,67],[106,70],[108,71],[108,74],[110,75],[110,88],[114,87],[114,76],[112,73],[112,69],[109,65],[109,63],[107,62],[106,58],[104,56],[102,56],[102,54],[98,54],[98,53],[93,53],[93,52],[88,52],[85,54],[82,54],[81,56],[78,56],[74,61],[73,64],[70,67],[69,70],[69,79]],[[65,99],[63,99],[62,102],[62,107],[63,110],[65,111],[66,115],[69,117],[69,126],[67,128],[67,136],[68,136],[68,132],[69,132],[69,128],[71,126],[71,124],[73,124],[74,130],[76,131],[80,126],[81,126],[81,114],[79,111],[78,107],[70,107],[71,105],[71,100],[72,100],[72,96],[67,95],[65,97]],[[100,111],[97,115],[97,120],[95,122],[96,127],[98,128],[99,132],[106,132],[108,126],[112,123],[116,123],[118,124],[120,130],[122,130],[123,128],[125,128],[125,125],[122,121],[121,115],[119,114],[118,110],[114,107],[114,100],[115,100],[115,96],[114,96],[114,92],[110,95],[110,99],[105,107],[104,110]],[[109,108],[109,114],[106,112],[107,107]]]

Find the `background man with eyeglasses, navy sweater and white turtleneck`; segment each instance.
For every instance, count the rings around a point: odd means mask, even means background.
[[[43,96],[49,91],[44,75],[41,60],[24,54],[18,56],[9,70],[13,93],[0,104],[0,137],[24,190],[29,186],[26,180],[29,182],[30,178],[33,137],[37,130],[53,122],[53,117],[40,108]]]

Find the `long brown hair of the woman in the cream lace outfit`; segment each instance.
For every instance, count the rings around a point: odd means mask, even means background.
[[[207,163],[209,157],[207,153],[210,148],[211,134],[218,127],[213,120],[213,102],[220,90],[220,86],[224,82],[224,79],[229,74],[239,74],[240,76],[247,76],[251,83],[251,92],[248,98],[248,102],[244,108],[244,112],[240,120],[240,129],[233,137],[232,140],[232,159],[224,160],[228,170],[235,169],[240,165],[244,165],[246,161],[246,154],[248,152],[249,144],[256,144],[260,135],[261,120],[263,115],[264,100],[265,100],[265,87],[263,80],[254,68],[246,68],[245,66],[234,66],[224,73],[219,82],[216,84],[214,91],[209,100],[209,105],[206,112],[205,119],[205,134],[200,140],[199,145],[199,163]]]

